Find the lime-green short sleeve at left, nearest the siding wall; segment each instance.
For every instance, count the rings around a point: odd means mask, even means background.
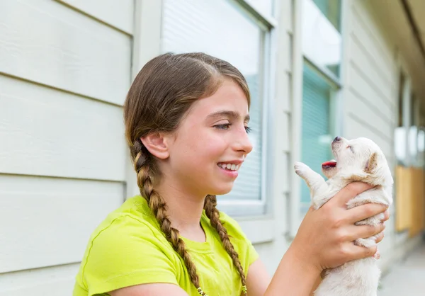
[[[129,216],[118,217],[101,230],[82,273],[89,296],[145,283],[178,285],[174,254],[156,235]]]

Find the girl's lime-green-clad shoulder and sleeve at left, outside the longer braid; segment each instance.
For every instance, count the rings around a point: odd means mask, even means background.
[[[142,198],[111,212],[91,235],[77,281],[89,295],[143,283],[177,283],[180,261]]]

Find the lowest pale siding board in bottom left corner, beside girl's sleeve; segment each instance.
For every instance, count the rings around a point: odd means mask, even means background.
[[[69,296],[79,264],[0,275],[0,296]]]

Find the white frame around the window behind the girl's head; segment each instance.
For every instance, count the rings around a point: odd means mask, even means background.
[[[263,42],[263,52],[261,52],[263,74],[262,96],[262,152],[261,152],[261,197],[259,200],[224,200],[220,199],[218,208],[227,214],[241,220],[242,227],[254,227],[251,225],[252,217],[258,217],[261,223],[270,226],[273,222],[269,220],[270,203],[273,199],[273,183],[271,175],[273,173],[273,161],[271,153],[273,144],[271,139],[274,136],[273,125],[273,108],[271,103],[274,96],[274,72],[276,64],[276,11],[278,11],[278,1],[274,0],[273,16],[265,15],[257,11],[249,1],[245,0],[227,0],[237,4],[243,13],[250,16],[265,31]],[[162,53],[162,16],[163,1],[143,0],[135,1],[135,32],[133,42],[132,55],[132,79],[135,78],[137,72],[143,65]],[[149,45],[149,46],[146,46]],[[130,156],[128,156],[128,176],[125,188],[127,197],[140,194],[137,187],[134,169],[132,167]],[[247,221],[249,219],[250,221]],[[246,220],[246,221],[245,221]],[[248,224],[246,224],[248,223]],[[259,227],[261,224],[256,224]],[[263,225],[263,224],[261,224]],[[264,226],[264,225],[263,225]],[[271,228],[270,228],[271,229]],[[253,242],[268,241],[270,235],[267,232],[259,231],[259,235],[255,236]]]

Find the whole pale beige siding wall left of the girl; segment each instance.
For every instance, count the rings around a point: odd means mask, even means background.
[[[70,295],[125,199],[133,1],[66,2],[0,9],[1,296]]]

